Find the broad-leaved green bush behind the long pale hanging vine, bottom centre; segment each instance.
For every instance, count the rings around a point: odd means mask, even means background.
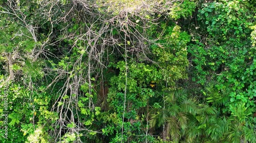
[[[123,141],[125,142],[132,140],[144,142],[145,137],[152,140],[152,136],[146,136],[143,131],[146,128],[143,125],[143,121],[147,122],[146,114],[140,115],[139,111],[146,107],[149,98],[154,97],[153,86],[151,87],[150,84],[154,84],[151,82],[154,78],[158,79],[159,72],[153,66],[133,62],[127,66],[126,72],[123,61],[118,62],[116,68],[120,70],[120,73],[110,79],[112,88],[109,89],[108,101],[112,109],[106,114],[107,118],[103,118],[108,127],[103,128],[102,132],[105,135],[112,135],[116,131],[117,134],[112,138],[112,142],[119,142],[123,126]],[[125,83],[126,76],[127,84]],[[126,92],[122,93],[123,91]],[[123,118],[124,123],[122,123]]]

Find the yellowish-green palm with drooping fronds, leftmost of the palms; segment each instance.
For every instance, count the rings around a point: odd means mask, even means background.
[[[185,136],[189,119],[196,115],[198,102],[187,96],[185,90],[170,92],[164,96],[164,107],[155,109],[150,120],[152,127],[163,127],[163,140],[179,142]]]

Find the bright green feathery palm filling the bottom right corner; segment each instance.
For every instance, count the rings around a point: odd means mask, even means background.
[[[208,141],[204,142],[256,142],[256,122],[250,117],[253,109],[239,103],[237,106],[230,105],[230,110],[230,116],[217,116],[206,123],[204,135],[208,136]]]

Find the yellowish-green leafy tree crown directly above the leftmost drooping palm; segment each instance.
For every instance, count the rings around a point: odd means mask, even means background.
[[[185,32],[180,31],[178,25],[167,26],[162,24],[165,35],[159,43],[161,46],[153,45],[152,52],[157,57],[163,80],[169,85],[174,85],[175,80],[186,78],[186,43],[189,42],[189,36]],[[158,79],[159,80],[159,79]]]

